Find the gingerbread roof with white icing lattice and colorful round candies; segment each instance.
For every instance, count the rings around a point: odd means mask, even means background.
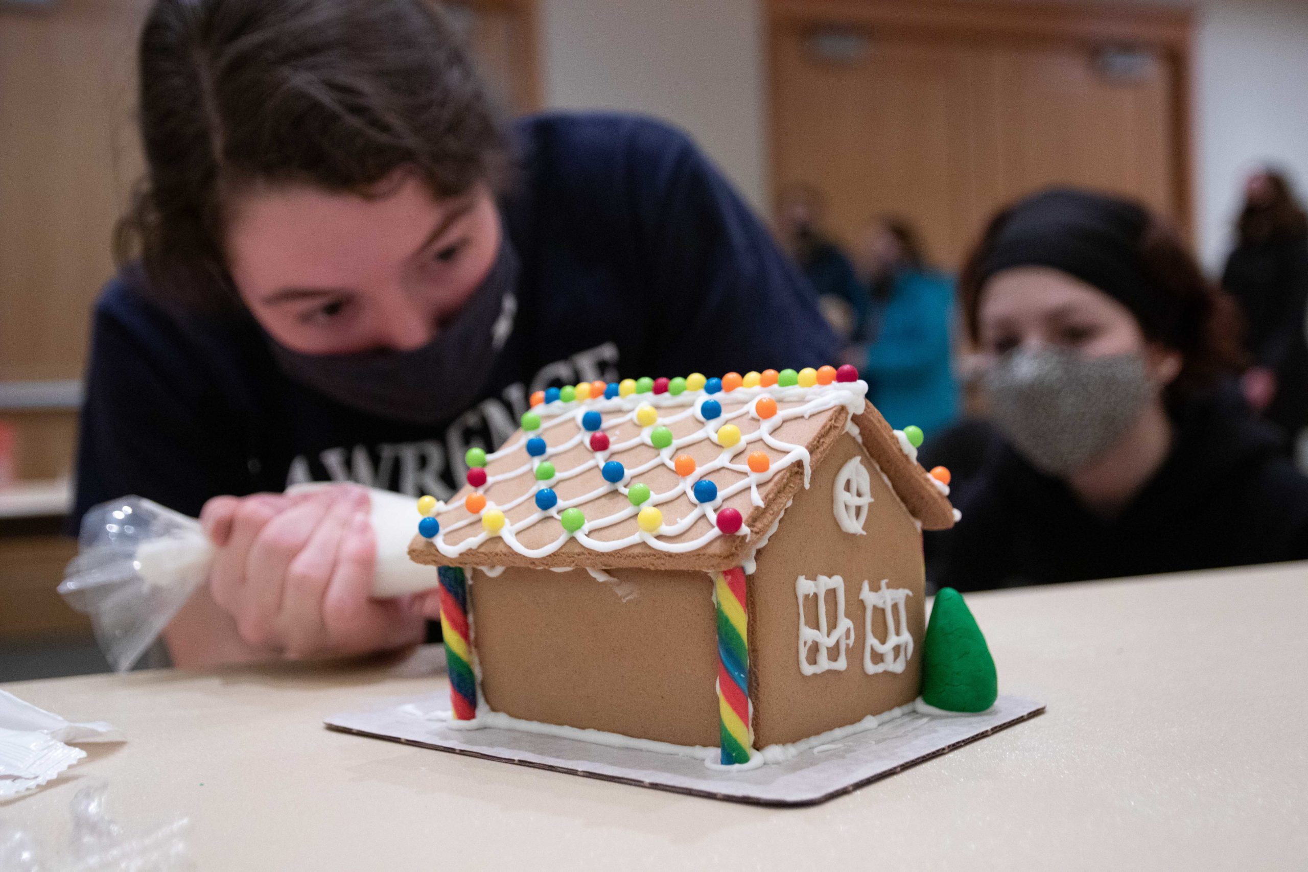
[[[923,528],[954,526],[947,488],[865,400],[852,367],[848,380],[831,367],[766,375],[772,384],[751,373],[535,395],[504,447],[470,451],[468,485],[449,503],[426,501],[409,556],[433,566],[727,569],[846,431]]]

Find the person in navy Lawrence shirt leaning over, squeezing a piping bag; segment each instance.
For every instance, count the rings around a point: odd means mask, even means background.
[[[375,651],[357,486],[450,497],[532,392],[619,374],[816,366],[812,292],[681,133],[501,122],[425,0],[157,0],[146,175],[95,307],[75,518],[200,514],[179,664]]]

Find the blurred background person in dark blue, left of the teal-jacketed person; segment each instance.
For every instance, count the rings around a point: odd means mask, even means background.
[[[846,344],[867,341],[867,289],[854,265],[825,231],[825,200],[811,184],[787,186],[777,197],[777,238],[818,292],[823,315]],[[855,362],[857,365],[857,362]]]

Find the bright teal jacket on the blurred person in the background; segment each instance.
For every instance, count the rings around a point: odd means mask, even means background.
[[[927,438],[959,417],[954,373],[954,280],[904,271],[888,299],[875,301],[878,331],[863,366],[870,399],[895,429],[910,424]]]

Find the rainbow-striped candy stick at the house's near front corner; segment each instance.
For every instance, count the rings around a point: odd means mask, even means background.
[[[753,729],[749,726],[749,621],[746,612],[744,570],[729,569],[713,577],[718,604],[718,716],[722,727],[722,765],[749,762]]]

